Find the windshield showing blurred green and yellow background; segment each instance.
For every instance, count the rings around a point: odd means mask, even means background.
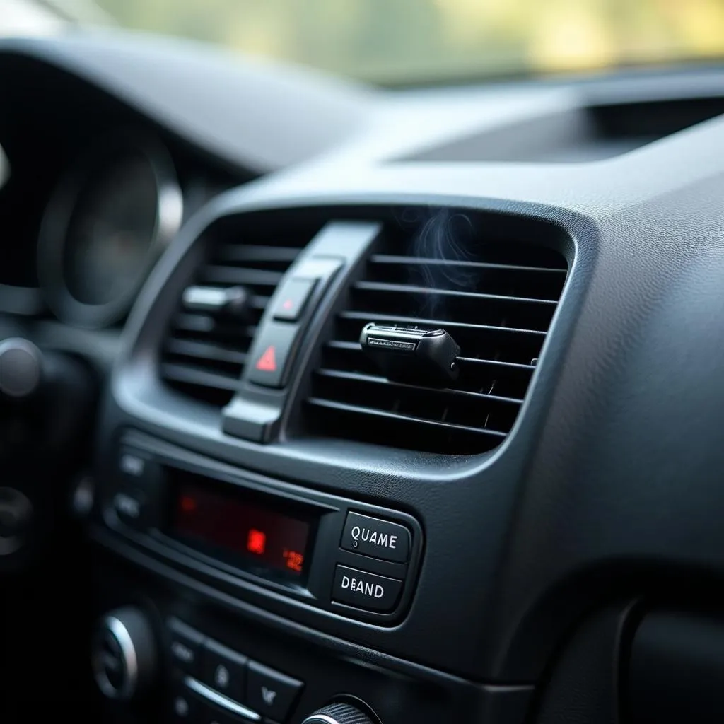
[[[96,0],[120,25],[376,83],[724,56],[724,0]]]

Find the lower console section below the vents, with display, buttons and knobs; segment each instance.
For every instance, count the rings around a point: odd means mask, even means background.
[[[116,450],[94,529],[93,674],[109,717],[422,722],[527,701],[526,687],[487,689],[321,633],[405,619],[424,565],[412,515],[135,431]]]

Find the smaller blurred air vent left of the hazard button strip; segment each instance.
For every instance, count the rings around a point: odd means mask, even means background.
[[[231,400],[266,303],[313,233],[237,232],[206,240],[206,263],[185,290],[164,342],[160,374],[169,387],[218,407]],[[243,314],[234,313],[240,294],[247,297]]]

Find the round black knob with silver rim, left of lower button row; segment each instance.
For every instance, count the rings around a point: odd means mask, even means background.
[[[143,611],[127,606],[106,613],[93,636],[93,675],[109,699],[128,701],[156,678],[156,637]]]

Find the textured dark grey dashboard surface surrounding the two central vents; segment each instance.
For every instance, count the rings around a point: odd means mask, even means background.
[[[84,53],[63,62],[77,68]],[[217,198],[161,260],[127,326],[101,455],[111,455],[119,428],[132,426],[269,476],[415,513],[427,547],[408,619],[391,631],[339,621],[326,631],[481,681],[535,680],[589,607],[645,592],[664,571],[671,580],[720,583],[724,120],[594,163],[413,159],[474,135],[491,114],[500,125],[582,104],[592,93],[640,97],[644,86],[644,95],[658,97],[720,93],[723,80],[721,72],[702,71],[479,93],[363,90],[363,101],[358,91],[341,90],[340,112],[355,122],[337,126],[344,132],[333,147]],[[187,130],[196,138],[198,127]],[[228,137],[203,143],[219,140]],[[227,148],[260,168],[282,163]],[[211,219],[385,203],[535,216],[573,239],[570,282],[531,396],[494,455],[440,460],[315,439],[263,447],[224,436],[216,418],[201,409],[190,416],[159,390],[152,350],[195,264],[195,237]],[[259,607],[247,613],[274,618]],[[276,616],[275,625],[285,623]]]

